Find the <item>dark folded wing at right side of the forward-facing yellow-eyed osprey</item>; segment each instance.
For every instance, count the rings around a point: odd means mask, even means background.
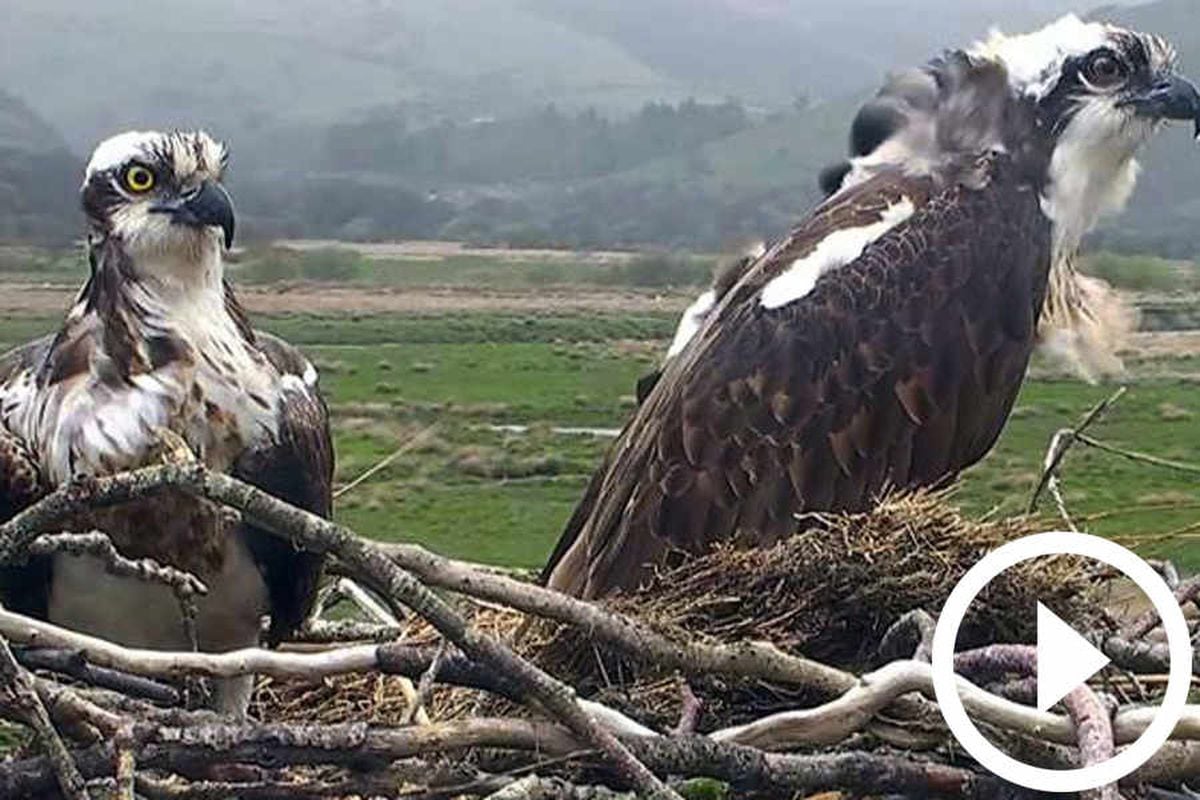
[[[256,339],[281,373],[304,383],[311,365],[299,350],[269,333],[256,332]],[[242,453],[234,475],[281,500],[329,518],[334,505],[329,411],[317,386],[306,389],[283,392],[277,440]],[[277,644],[312,610],[324,559],[253,525],[242,525],[241,533],[266,581],[271,602],[268,640]]]

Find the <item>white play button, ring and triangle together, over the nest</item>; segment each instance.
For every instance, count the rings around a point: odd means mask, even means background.
[[[954,654],[962,624],[971,603],[992,578],[1021,561],[1048,555],[1080,555],[1094,559],[1123,572],[1153,603],[1166,631],[1171,656],[1166,690],[1162,705],[1141,735],[1112,758],[1086,768],[1052,770],[1020,762],[980,733],[967,716],[959,697],[964,681],[954,672]],[[1038,603],[1038,697],[1037,708],[1043,714],[1073,688],[1087,681],[1108,663],[1103,652],[1093,648],[1076,631],[1042,603]],[[958,742],[984,768],[1010,783],[1042,792],[1086,792],[1114,784],[1145,764],[1166,742],[1175,724],[1183,715],[1192,684],[1192,640],[1183,610],[1162,577],[1132,551],[1116,542],[1087,534],[1055,531],[1025,536],[988,553],[967,570],[947,597],[934,631],[932,648],[934,693],[946,724]],[[1007,702],[1000,700],[997,702]],[[1033,709],[1027,709],[1033,712]]]

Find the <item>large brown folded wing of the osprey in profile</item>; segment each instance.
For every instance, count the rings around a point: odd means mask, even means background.
[[[1049,221],[1007,160],[976,188],[878,175],[776,245],[667,366],[572,518],[550,585],[630,588],[672,549],[768,543],[800,511],[854,510],[929,486],[1000,433],[1033,345]],[[778,309],[763,285],[829,233],[907,223]]]

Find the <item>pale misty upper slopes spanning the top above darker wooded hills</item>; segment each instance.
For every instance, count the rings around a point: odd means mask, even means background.
[[[236,139],[378,107],[414,122],[688,96],[779,108],[1069,0],[2,0],[0,76],[76,150],[132,126]],[[917,24],[914,20],[919,20]]]

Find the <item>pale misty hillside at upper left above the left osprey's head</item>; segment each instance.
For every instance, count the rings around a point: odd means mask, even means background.
[[[688,88],[522,0],[4,0],[0,76],[83,151],[136,126],[234,138],[404,106],[414,120]]]

